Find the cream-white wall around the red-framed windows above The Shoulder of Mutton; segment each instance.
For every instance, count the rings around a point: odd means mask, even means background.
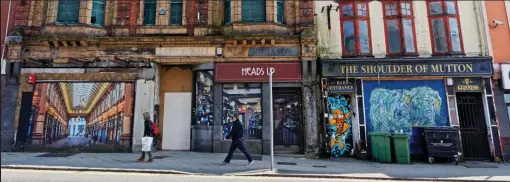
[[[460,25],[463,36],[464,52],[467,56],[487,56],[485,34],[479,3],[476,1],[457,1],[459,7]],[[333,5],[331,11],[331,31],[328,31],[326,8],[321,12],[322,7]],[[336,1],[314,1],[317,36],[319,40],[320,57],[325,59],[338,59],[342,56],[342,36],[340,27],[340,10],[335,11],[338,3]],[[413,1],[415,16],[416,43],[420,57],[430,57],[432,45],[430,40],[429,23],[425,1]],[[372,53],[376,58],[386,57],[386,37],[383,23],[383,7],[379,1],[369,3],[370,26],[372,34]]]

